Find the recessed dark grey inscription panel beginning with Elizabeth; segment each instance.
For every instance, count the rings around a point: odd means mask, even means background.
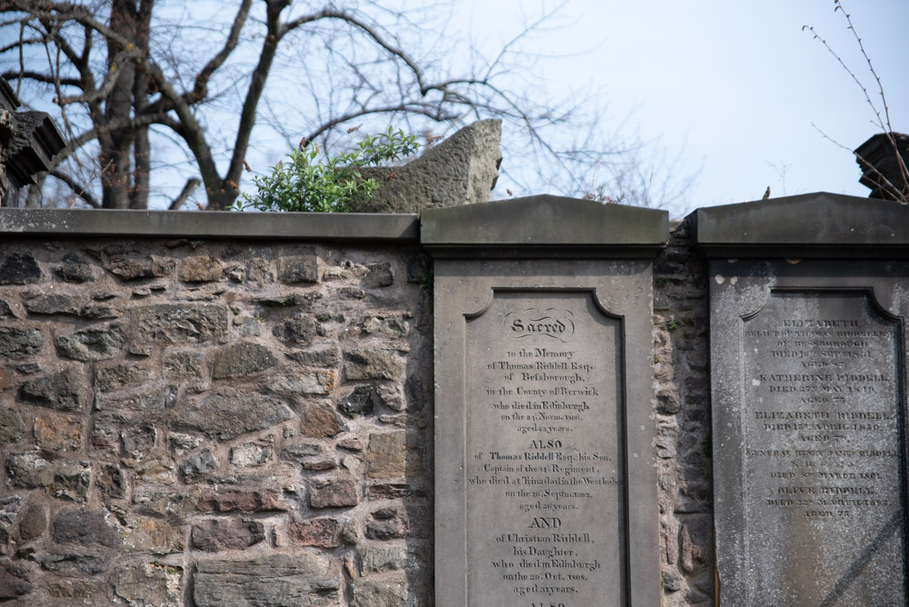
[[[774,292],[743,332],[747,604],[906,604],[898,324]]]

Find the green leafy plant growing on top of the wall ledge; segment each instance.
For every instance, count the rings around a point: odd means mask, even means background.
[[[287,154],[287,162],[272,167],[271,174],[253,177],[258,191],[255,195],[242,194],[233,208],[345,213],[351,204],[371,197],[379,187],[375,179],[363,178],[361,168],[394,162],[419,147],[416,135],[395,131],[391,126],[385,133],[367,135],[353,149],[335,155],[323,153],[317,144],[304,140]]]

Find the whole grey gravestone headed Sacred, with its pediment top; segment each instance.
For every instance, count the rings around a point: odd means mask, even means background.
[[[430,209],[435,602],[660,602],[652,259],[664,212]]]

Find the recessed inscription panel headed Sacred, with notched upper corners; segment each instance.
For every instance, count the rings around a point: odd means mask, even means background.
[[[496,292],[465,342],[468,604],[623,604],[620,322]]]

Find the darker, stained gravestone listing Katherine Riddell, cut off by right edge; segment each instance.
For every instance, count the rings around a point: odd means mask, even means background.
[[[909,209],[700,209],[720,604],[904,605]]]

